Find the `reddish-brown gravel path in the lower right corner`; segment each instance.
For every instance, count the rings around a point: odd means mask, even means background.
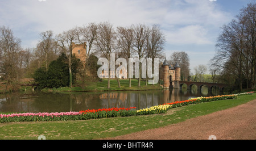
[[[166,127],[148,129],[112,140],[217,140],[256,139],[256,99],[240,106],[199,116]]]

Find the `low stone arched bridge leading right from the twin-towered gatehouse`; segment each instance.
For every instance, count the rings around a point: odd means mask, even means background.
[[[193,85],[197,86],[197,90],[201,91],[203,86],[208,87],[208,91],[212,91],[213,87],[218,87],[220,91],[223,91],[227,85],[224,83],[208,83],[208,82],[193,82],[193,81],[177,81],[177,88],[180,89],[183,85],[187,85],[187,89],[191,90]]]

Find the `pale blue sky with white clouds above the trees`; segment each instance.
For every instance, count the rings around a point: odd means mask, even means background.
[[[213,58],[221,27],[255,0],[0,0],[0,26],[9,27],[34,48],[39,33],[55,34],[87,23],[110,22],[114,27],[159,24],[166,37],[167,60],[184,51],[190,69]]]

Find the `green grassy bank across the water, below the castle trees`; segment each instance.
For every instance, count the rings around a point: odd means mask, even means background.
[[[108,79],[97,82],[86,82],[84,87],[59,87],[53,89],[43,89],[43,91],[121,91],[121,90],[159,90],[162,87],[159,84],[145,86],[146,81],[141,81],[141,87],[138,87],[138,80],[131,79],[131,87],[129,87],[129,79],[119,79],[120,87],[116,79],[110,79],[110,89],[108,89]]]

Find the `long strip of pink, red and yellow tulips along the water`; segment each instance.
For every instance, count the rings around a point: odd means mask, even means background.
[[[85,110],[79,112],[55,112],[55,113],[20,113],[20,114],[1,114],[0,123],[16,122],[16,121],[57,121],[57,120],[87,120],[98,118],[123,117],[134,115],[161,114],[166,113],[173,107],[186,106],[188,104],[210,102],[214,100],[236,99],[240,95],[249,95],[254,92],[240,93],[232,95],[218,95],[214,97],[197,97],[188,100],[165,103],[159,106],[143,108],[141,110],[133,110],[136,107],[129,108],[101,108],[97,110]]]

